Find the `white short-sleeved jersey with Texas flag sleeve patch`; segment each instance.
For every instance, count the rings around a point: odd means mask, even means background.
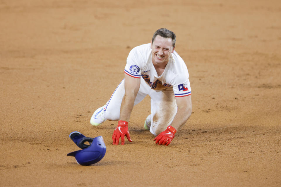
[[[151,89],[173,88],[176,97],[189,96],[191,88],[184,60],[174,51],[164,72],[158,76],[151,60],[151,51],[150,44],[133,48],[128,55],[124,72],[131,77],[142,77]]]

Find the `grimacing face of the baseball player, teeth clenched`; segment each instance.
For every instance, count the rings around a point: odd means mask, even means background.
[[[164,38],[159,35],[155,37],[153,43],[150,41],[150,47],[153,64],[167,63],[175,49],[172,38]]]

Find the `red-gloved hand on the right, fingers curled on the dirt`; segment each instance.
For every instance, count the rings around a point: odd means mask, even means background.
[[[166,146],[168,146],[171,143],[172,139],[175,137],[176,132],[177,130],[174,127],[169,126],[165,131],[158,134],[158,136],[156,136],[153,141],[156,140],[155,143],[158,143],[158,145],[165,146],[166,144]]]

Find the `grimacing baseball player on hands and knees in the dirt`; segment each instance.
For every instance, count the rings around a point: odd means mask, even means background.
[[[191,88],[184,60],[175,49],[176,35],[167,29],[153,34],[149,44],[133,48],[127,58],[125,78],[107,103],[98,108],[90,123],[98,126],[105,120],[118,121],[113,132],[113,145],[124,145],[124,137],[132,141],[128,131],[133,106],[149,95],[151,114],[144,128],[156,137],[158,145],[168,146],[174,134],[191,115]]]

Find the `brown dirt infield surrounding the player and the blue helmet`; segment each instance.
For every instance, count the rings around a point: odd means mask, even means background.
[[[272,1],[0,0],[0,186],[281,186],[281,4]],[[177,35],[193,112],[169,146],[133,109],[132,143],[116,122],[90,125],[124,78],[129,51]],[[103,136],[80,166],[72,131]]]

